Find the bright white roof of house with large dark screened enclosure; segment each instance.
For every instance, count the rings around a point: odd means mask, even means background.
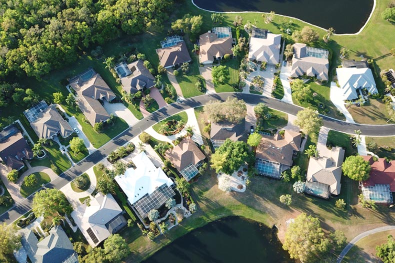
[[[170,187],[173,182],[160,168],[149,160],[145,152],[139,153],[132,159],[135,169],[129,168],[123,175],[115,177],[115,181],[127,196],[131,205],[144,195],[152,194],[156,188],[166,184]]]

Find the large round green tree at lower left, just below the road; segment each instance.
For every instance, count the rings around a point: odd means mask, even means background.
[[[47,218],[69,214],[72,208],[60,190],[45,189],[37,192],[33,197],[31,211],[37,218],[40,216]]]

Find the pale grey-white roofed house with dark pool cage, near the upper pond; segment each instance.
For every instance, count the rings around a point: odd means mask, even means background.
[[[248,59],[275,65],[280,60],[281,35],[266,29],[252,28]]]

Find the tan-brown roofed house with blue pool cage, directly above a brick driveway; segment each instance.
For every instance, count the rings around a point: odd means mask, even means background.
[[[212,64],[216,59],[222,59],[225,54],[232,55],[232,33],[230,27],[214,27],[212,32],[199,36],[199,61],[202,64]]]

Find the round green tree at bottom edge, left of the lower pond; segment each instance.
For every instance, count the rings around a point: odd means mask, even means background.
[[[120,263],[130,254],[126,241],[119,235],[110,235],[103,244],[105,258],[112,263]]]

